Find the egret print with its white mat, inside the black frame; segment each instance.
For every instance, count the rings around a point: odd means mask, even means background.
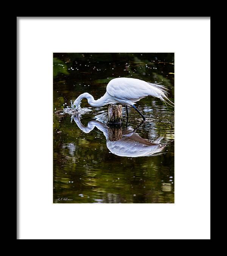
[[[17,17],[17,239],[210,239],[210,17]]]

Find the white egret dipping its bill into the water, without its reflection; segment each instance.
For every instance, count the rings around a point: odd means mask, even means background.
[[[83,98],[87,98],[88,103],[93,107],[121,103],[126,106],[127,117],[127,106],[132,106],[143,117],[143,120],[146,120],[143,114],[135,107],[135,102],[149,95],[165,102],[169,100],[167,98],[166,88],[160,84],[152,84],[135,78],[120,77],[109,81],[106,87],[106,93],[98,100],[94,100],[92,95],[85,92],[79,95],[74,103],[71,103],[71,106],[78,109]],[[172,101],[170,102],[173,103]]]

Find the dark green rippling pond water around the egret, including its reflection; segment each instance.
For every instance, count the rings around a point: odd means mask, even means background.
[[[53,203],[174,203],[173,107],[143,98],[136,106],[147,120],[129,108],[126,128],[123,106],[117,145],[108,138],[108,105],[94,108],[84,99],[85,113],[63,113],[84,92],[100,98],[119,76],[162,82],[174,102],[174,54],[54,53],[53,75]],[[160,146],[151,145],[160,138]],[[135,147],[154,154],[138,156]]]

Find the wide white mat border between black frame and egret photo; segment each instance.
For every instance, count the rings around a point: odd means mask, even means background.
[[[210,19],[17,22],[19,239],[210,239]],[[176,53],[175,204],[52,204],[52,52]]]

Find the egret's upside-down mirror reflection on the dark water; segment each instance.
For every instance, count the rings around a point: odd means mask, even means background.
[[[139,157],[139,156],[154,156],[163,152],[167,143],[162,143],[163,137],[156,138],[152,141],[143,139],[138,133],[135,133],[137,128],[126,128],[122,130],[121,125],[107,126],[100,121],[91,120],[87,126],[82,125],[79,116],[73,117],[75,123],[84,131],[90,133],[95,127],[102,131],[106,137],[106,145],[111,153],[117,156]]]

